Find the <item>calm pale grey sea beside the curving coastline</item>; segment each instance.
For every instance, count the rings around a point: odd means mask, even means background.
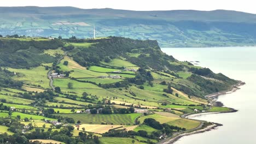
[[[223,127],[182,137],[175,144],[256,143],[256,47],[165,48],[162,51],[179,61],[200,61],[201,67],[208,67],[214,73],[246,82],[237,92],[218,98],[238,112],[193,117],[222,123]]]

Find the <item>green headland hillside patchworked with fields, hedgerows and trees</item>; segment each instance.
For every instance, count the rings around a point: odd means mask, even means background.
[[[0,55],[11,61],[2,59],[0,69],[0,129],[15,133],[14,141],[23,131],[22,140],[155,143],[200,125],[184,113],[229,111],[204,96],[237,82],[166,55],[156,40],[1,40]],[[144,123],[148,118],[160,126]]]

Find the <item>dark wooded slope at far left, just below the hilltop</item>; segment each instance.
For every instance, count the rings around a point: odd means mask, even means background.
[[[63,46],[60,40],[21,41],[16,39],[0,40],[0,66],[13,68],[37,67],[42,63],[51,63],[54,57],[43,54],[44,50]],[[26,50],[26,51],[25,51]]]

